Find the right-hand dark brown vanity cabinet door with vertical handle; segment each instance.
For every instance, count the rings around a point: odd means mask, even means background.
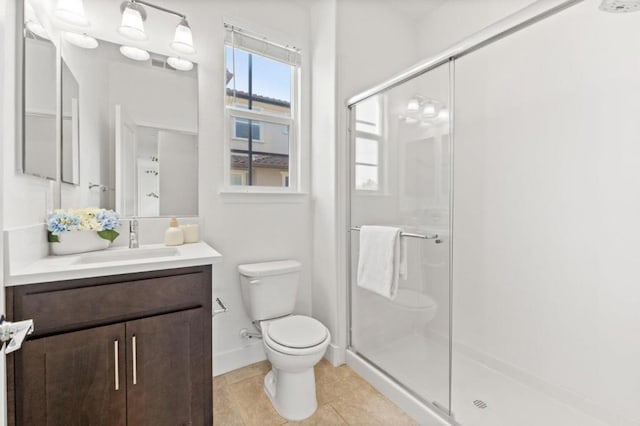
[[[129,425],[211,424],[203,401],[203,315],[199,308],[126,323]]]

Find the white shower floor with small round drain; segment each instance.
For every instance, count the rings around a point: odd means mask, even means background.
[[[446,406],[448,345],[410,335],[360,353],[421,397]],[[455,419],[469,426],[606,425],[458,353],[453,357],[452,408]]]

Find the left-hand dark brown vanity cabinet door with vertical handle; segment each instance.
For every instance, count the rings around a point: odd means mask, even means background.
[[[123,324],[44,337],[16,357],[16,424],[126,425]]]

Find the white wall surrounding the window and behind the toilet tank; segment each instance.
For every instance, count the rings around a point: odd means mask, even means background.
[[[225,19],[282,44],[302,49],[303,127],[301,188],[309,191],[310,54],[308,9],[295,1],[181,2],[197,49],[209,52],[199,66],[199,203],[203,239],[224,255],[216,266],[214,297],[230,312],[214,319],[214,372],[264,358],[260,341],[248,342],[240,329],[252,328],[240,295],[237,265],[275,259],[303,264],[296,312],[311,313],[311,210],[308,195],[220,194],[224,182]]]

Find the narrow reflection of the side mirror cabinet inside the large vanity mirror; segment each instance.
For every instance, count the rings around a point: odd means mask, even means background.
[[[80,88],[62,60],[62,181],[80,184]]]

